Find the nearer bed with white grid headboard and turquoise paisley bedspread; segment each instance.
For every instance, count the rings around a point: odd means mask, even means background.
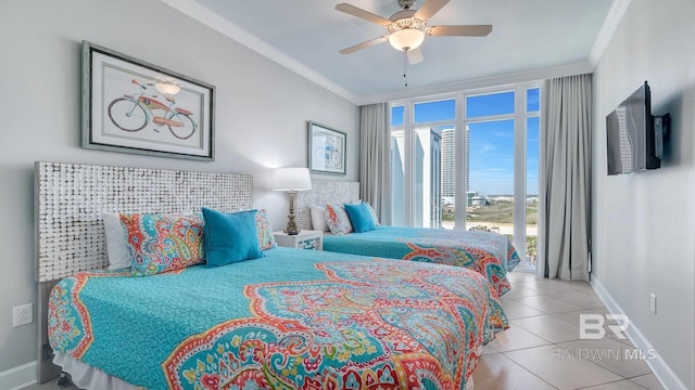
[[[41,342],[81,388],[464,389],[508,327],[486,278],[464,268],[271,246],[216,268],[104,270],[97,210],[191,211],[223,187],[233,203],[216,207],[231,213],[252,182],[65,164],[37,164],[37,280],[60,280]]]

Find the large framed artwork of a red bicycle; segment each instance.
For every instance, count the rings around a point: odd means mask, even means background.
[[[83,147],[214,160],[215,87],[83,41]]]

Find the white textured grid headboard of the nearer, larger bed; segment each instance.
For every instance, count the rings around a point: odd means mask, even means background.
[[[62,162],[35,164],[36,280],[106,266],[102,211],[220,211],[253,207],[250,174]]]

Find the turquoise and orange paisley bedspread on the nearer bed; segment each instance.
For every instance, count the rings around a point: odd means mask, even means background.
[[[464,389],[507,320],[465,269],[291,248],[215,269],[80,273],[54,350],[147,389]]]

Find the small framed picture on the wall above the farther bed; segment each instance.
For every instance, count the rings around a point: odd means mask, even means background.
[[[344,132],[309,121],[309,169],[317,173],[345,174],[345,141]]]

